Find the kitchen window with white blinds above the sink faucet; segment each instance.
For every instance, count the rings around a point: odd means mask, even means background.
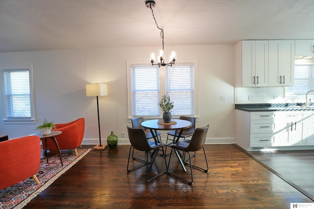
[[[294,86],[289,86],[287,93],[290,95],[305,95],[314,89],[314,63],[295,63]]]

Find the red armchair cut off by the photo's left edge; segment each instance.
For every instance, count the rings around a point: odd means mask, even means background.
[[[36,175],[40,165],[39,136],[24,136],[0,142],[0,190]]]

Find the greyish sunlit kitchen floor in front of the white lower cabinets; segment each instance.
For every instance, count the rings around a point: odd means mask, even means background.
[[[248,153],[314,200],[314,150]]]

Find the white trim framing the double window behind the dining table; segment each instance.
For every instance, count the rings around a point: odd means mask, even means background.
[[[184,63],[194,63],[194,116],[195,118],[199,118],[199,109],[198,109],[198,88],[199,88],[199,77],[198,77],[198,59],[184,59],[180,60],[180,63],[176,62],[175,65],[184,65]],[[132,116],[132,86],[131,86],[131,65],[145,65],[151,66],[151,64],[147,60],[127,60],[127,86],[128,86],[128,119],[129,122],[133,118]],[[160,67],[164,68],[164,67]],[[162,70],[159,74],[159,87],[160,87],[160,95],[165,94],[165,70]],[[145,116],[145,119],[161,119],[162,115],[159,117],[156,116]],[[179,116],[173,116],[172,118],[179,118]]]

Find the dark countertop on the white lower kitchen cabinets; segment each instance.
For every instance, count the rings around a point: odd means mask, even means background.
[[[280,103],[280,104],[235,104],[235,109],[243,111],[314,111],[314,105],[311,103],[303,107],[300,103]],[[313,106],[311,106],[313,105]]]

